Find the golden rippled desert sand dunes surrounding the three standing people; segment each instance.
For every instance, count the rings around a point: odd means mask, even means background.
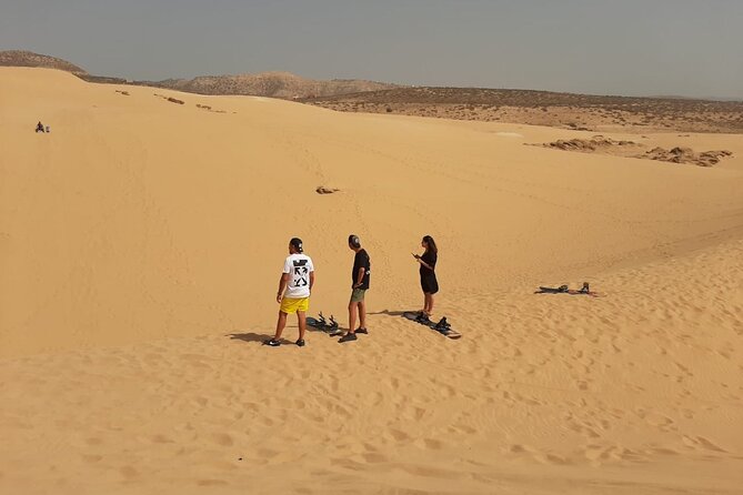
[[[0,493],[740,493],[743,137],[524,145],[593,134],[0,68]],[[262,346],[293,235],[347,321],[352,232],[370,335]]]

